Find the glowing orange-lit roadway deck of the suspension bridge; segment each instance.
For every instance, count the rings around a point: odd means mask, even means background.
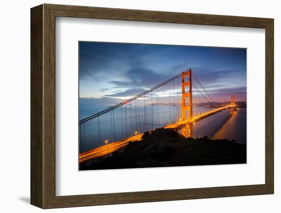
[[[221,112],[221,111],[223,111],[225,109],[228,109],[228,108],[231,108],[231,107],[237,107],[237,105],[236,104],[225,105],[223,107],[215,108],[215,109],[203,112],[200,115],[196,115],[191,120],[189,120],[189,119],[184,120],[184,121],[179,120],[176,123],[171,123],[171,124],[168,124],[166,126],[163,126],[163,128],[180,130],[182,126],[186,125],[186,123],[198,122],[198,121],[200,121],[204,118],[207,118],[211,115],[214,115],[218,112]],[[110,144],[105,144],[105,145],[99,146],[97,148],[94,148],[93,150],[81,153],[81,154],[79,154],[79,163],[87,163],[90,160],[97,159],[97,158],[100,158],[100,157],[103,157],[103,156],[107,156],[110,153],[112,153],[114,151],[117,151],[117,150],[120,150],[121,148],[125,147],[126,145],[128,145],[129,142],[135,142],[135,141],[142,140],[143,135],[144,135],[144,133],[140,133],[140,134],[134,135],[132,137],[129,137],[129,138],[126,138],[126,139],[123,139],[123,140],[120,140],[120,141],[112,142]]]

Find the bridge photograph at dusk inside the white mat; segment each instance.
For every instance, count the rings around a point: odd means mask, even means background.
[[[247,49],[79,41],[79,171],[247,163]]]

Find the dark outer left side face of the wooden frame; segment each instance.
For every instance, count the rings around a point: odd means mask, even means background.
[[[43,6],[31,10],[31,199],[43,207]]]

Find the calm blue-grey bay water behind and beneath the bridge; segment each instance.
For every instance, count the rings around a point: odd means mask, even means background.
[[[101,112],[108,107],[80,107],[79,120]],[[210,110],[193,107],[193,114]],[[153,116],[152,116],[153,115]],[[80,125],[80,152],[85,152],[108,143],[122,140],[181,118],[177,106],[135,106],[126,105]],[[153,128],[152,128],[153,127]],[[212,139],[236,140],[246,144],[246,109],[236,112],[224,110],[193,124],[193,137],[208,136]]]

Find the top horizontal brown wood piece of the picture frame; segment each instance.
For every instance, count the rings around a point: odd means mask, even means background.
[[[265,28],[270,23],[269,18],[49,4],[44,4],[44,6],[48,7],[48,10],[52,11],[55,16],[64,17],[101,18],[115,20],[134,20],[141,22],[216,25],[250,28]]]

